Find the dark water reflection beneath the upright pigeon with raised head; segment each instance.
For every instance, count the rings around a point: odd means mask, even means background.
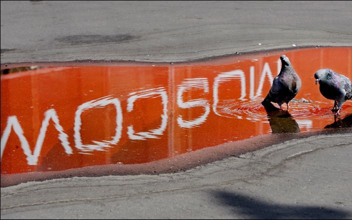
[[[266,115],[272,133],[297,133],[300,132],[297,122],[287,110],[275,107],[271,102],[264,102]]]

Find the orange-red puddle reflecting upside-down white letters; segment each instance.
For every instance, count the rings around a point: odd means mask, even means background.
[[[268,117],[260,102],[281,54],[302,86],[290,102],[292,117]],[[1,179],[145,163],[271,132],[322,129],[334,122],[333,101],[320,94],[314,72],[331,68],[352,78],[351,63],[351,47],[329,47],[1,75]],[[347,101],[341,118],[350,112]]]

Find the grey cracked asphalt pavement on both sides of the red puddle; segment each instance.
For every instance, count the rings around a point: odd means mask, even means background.
[[[1,1],[6,63],[187,61],[351,46],[351,1]],[[260,43],[260,45],[258,44]],[[158,175],[1,187],[1,219],[352,218],[352,133],[314,135]]]

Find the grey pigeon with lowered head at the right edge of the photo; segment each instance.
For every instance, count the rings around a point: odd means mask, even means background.
[[[352,99],[351,80],[329,68],[319,69],[314,74],[315,84],[319,82],[320,93],[327,99],[334,100],[332,111],[339,115],[342,104]]]

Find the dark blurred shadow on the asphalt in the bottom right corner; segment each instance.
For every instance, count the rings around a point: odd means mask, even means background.
[[[221,203],[244,219],[345,219],[352,212],[313,205],[288,205],[255,199],[238,192],[214,190],[211,192]]]

